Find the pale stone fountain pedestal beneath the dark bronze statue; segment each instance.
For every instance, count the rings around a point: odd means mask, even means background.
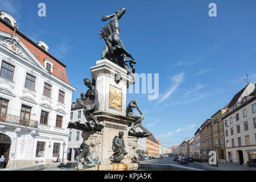
[[[126,117],[126,92],[132,78],[127,76],[127,71],[107,59],[99,60],[96,66],[90,68],[92,78],[96,81],[100,107],[93,114],[104,128],[101,131],[82,131],[84,143],[90,146],[92,158],[100,158],[95,167],[86,167],[81,164],[77,170],[135,170],[138,163],[134,162],[135,148],[138,146],[137,138],[128,136],[127,127],[133,119]],[[122,80],[115,82],[119,74]],[[111,164],[110,156],[113,155],[112,141],[122,130],[125,148],[128,154],[122,163]],[[138,156],[137,156],[138,157]]]

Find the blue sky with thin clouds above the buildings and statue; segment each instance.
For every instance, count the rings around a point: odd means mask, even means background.
[[[38,4],[46,3],[46,17]],[[217,5],[209,17],[208,5]],[[100,59],[104,40],[97,32],[104,15],[126,7],[119,21],[121,39],[137,61],[138,73],[159,73],[159,98],[137,98],[143,125],[163,146],[180,144],[245,86],[243,76],[256,82],[256,1],[37,1],[0,0],[19,30],[67,65],[77,88],[86,88],[90,67]]]

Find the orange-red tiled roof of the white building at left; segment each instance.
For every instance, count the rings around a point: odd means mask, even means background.
[[[0,18],[0,31],[7,32],[8,34],[14,34],[14,28],[5,22],[5,20]],[[19,30],[16,30],[16,36],[22,41],[22,43],[32,52],[32,54],[39,60],[39,62],[44,65],[44,59],[51,60],[53,64],[52,74],[61,80],[67,82],[68,76],[65,70],[66,65],[61,63],[61,61],[57,60],[54,56],[48,53],[46,50],[38,46],[35,42],[33,42],[30,38],[24,35]]]

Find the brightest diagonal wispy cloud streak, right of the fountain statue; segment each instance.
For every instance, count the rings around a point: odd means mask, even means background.
[[[169,98],[171,94],[175,92],[175,90],[180,86],[181,82],[184,81],[184,76],[185,76],[184,73],[180,73],[172,77],[172,86],[168,89],[167,93],[164,94],[164,96],[159,99],[158,104],[167,100],[167,98]]]

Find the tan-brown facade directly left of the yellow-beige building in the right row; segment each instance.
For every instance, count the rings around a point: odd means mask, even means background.
[[[200,153],[203,159],[209,159],[209,151],[213,150],[212,126],[212,119],[207,119],[200,127]]]

